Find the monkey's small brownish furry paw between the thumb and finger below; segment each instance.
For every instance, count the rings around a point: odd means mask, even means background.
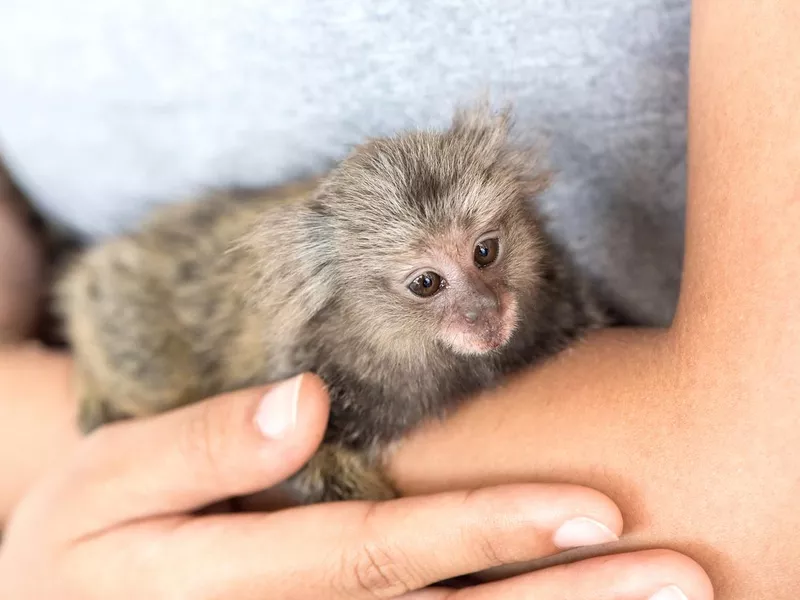
[[[376,461],[364,453],[326,444],[288,482],[303,502],[390,500],[398,496]]]

